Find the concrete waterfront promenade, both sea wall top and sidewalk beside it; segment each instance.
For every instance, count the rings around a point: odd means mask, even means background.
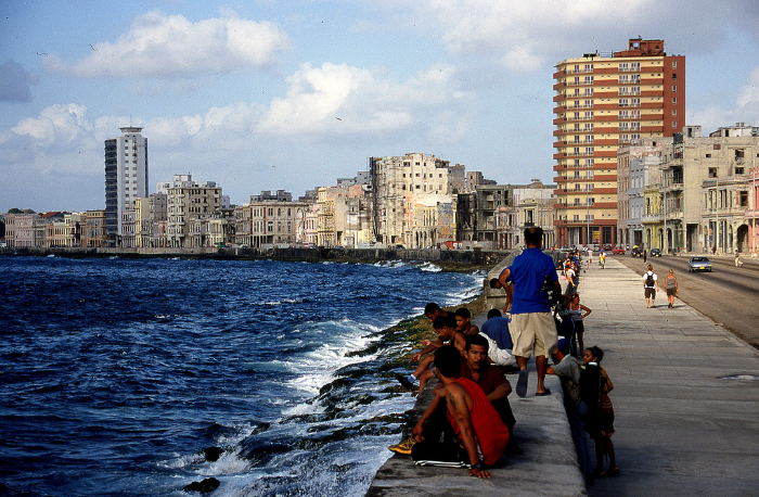
[[[370,496],[754,495],[759,486],[759,353],[681,301],[647,309],[641,275],[609,257],[582,273],[581,302],[593,309],[586,345],[606,353],[614,383],[621,475],[586,486],[579,475],[555,379],[550,397],[510,396],[523,456],[507,456],[488,481],[465,470],[416,468],[394,456]],[[481,322],[481,316],[478,321]],[[549,377],[550,378],[550,377]],[[516,375],[509,375],[515,384]],[[422,400],[423,404],[424,400]]]

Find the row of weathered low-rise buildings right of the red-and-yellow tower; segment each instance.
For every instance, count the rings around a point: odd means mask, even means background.
[[[620,239],[665,252],[756,251],[759,128],[738,123],[704,137],[686,126],[623,146],[618,161]]]

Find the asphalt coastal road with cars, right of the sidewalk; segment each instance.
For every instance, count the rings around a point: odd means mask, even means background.
[[[643,273],[646,264],[642,258],[617,255],[615,259],[641,275],[643,298]],[[759,348],[759,260],[742,257],[744,266],[736,268],[731,256],[709,257],[712,272],[687,272],[690,256],[648,257],[654,272],[659,277],[659,288],[669,269],[674,269],[680,292],[678,298],[689,304],[709,319],[723,326],[738,337]],[[664,291],[657,293],[656,305],[666,306]],[[676,301],[677,305],[677,301]]]

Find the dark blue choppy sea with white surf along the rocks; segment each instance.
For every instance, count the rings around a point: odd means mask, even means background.
[[[362,496],[414,398],[384,332],[483,275],[0,257],[0,495]],[[197,495],[197,494],[195,494]]]

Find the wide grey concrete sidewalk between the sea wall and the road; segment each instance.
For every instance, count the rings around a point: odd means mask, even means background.
[[[647,309],[642,275],[614,256],[582,273],[578,291],[593,309],[586,346],[604,349],[614,384],[621,471],[589,495],[756,495],[757,351],[680,301],[667,308],[662,292]]]

